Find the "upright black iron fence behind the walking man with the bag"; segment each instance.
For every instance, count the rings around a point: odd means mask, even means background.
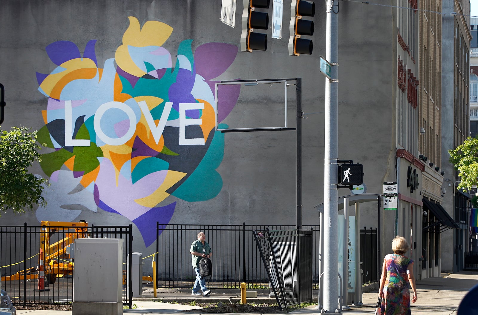
[[[159,287],[191,288],[196,274],[192,268],[191,243],[197,233],[206,233],[211,245],[213,274],[206,278],[208,288],[269,288],[269,278],[254,242],[252,231],[295,229],[293,225],[176,225],[157,223],[157,280]],[[319,226],[304,226],[312,231],[313,248],[318,248]],[[313,251],[313,280],[318,282],[318,261]]]

